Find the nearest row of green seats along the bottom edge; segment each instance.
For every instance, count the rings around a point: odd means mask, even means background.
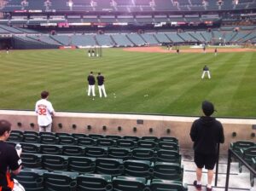
[[[45,170],[23,170],[15,177],[26,191],[186,191],[187,185],[178,181],[143,177],[111,177],[109,175]]]

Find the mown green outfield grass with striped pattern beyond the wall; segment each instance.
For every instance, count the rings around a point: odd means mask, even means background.
[[[256,52],[163,54],[103,49],[15,50],[0,53],[0,108],[33,110],[42,90],[56,111],[201,115],[201,101],[218,117],[255,117]],[[201,79],[202,67],[212,79]],[[87,75],[102,72],[108,98],[87,96]],[[115,96],[114,96],[115,94]],[[148,96],[147,96],[148,95]]]

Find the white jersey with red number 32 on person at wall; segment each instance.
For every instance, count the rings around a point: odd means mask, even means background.
[[[39,126],[47,126],[52,123],[50,113],[54,113],[55,110],[49,101],[45,99],[37,101],[35,111],[38,113]]]

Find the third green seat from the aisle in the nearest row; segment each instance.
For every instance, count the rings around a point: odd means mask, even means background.
[[[109,175],[84,174],[77,178],[77,191],[111,191],[112,177]]]

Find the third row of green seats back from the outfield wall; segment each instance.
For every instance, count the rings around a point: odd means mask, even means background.
[[[15,144],[15,142],[9,142]],[[22,153],[42,153],[64,156],[113,158],[113,159],[143,159],[148,161],[175,162],[181,164],[181,155],[176,150],[160,149],[154,151],[146,148],[101,148],[79,147],[69,145],[44,145],[21,143]]]

